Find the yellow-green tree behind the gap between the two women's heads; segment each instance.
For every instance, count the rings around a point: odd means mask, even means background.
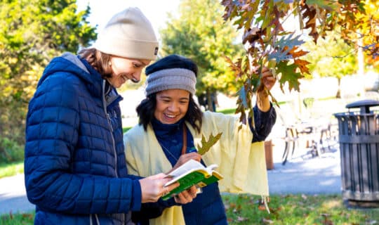
[[[223,8],[215,0],[182,0],[178,15],[168,15],[160,30],[161,53],[180,54],[199,66],[197,94],[204,91],[236,92],[236,79],[223,56],[242,56],[243,46],[234,44],[237,32],[222,19]]]

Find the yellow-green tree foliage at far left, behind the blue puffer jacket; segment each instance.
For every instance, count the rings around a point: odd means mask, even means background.
[[[95,39],[95,27],[86,21],[89,13],[89,8],[77,12],[75,0],[1,0],[2,138],[23,142],[27,103],[48,60]]]

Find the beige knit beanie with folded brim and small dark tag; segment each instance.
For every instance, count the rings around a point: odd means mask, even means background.
[[[158,41],[149,20],[139,8],[117,13],[98,34],[95,49],[114,56],[155,60]]]

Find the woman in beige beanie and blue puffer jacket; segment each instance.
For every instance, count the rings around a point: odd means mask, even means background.
[[[48,64],[26,124],[25,186],[36,205],[34,224],[130,224],[131,210],[178,185],[164,188],[164,174],[138,180],[126,169],[116,89],[138,82],[157,50],[149,20],[127,8],[93,48]],[[176,200],[187,203],[190,194]]]

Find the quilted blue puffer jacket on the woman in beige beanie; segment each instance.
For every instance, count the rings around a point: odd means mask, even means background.
[[[140,210],[140,184],[128,176],[121,96],[70,53],[46,67],[29,103],[27,198],[34,224],[126,224]]]

